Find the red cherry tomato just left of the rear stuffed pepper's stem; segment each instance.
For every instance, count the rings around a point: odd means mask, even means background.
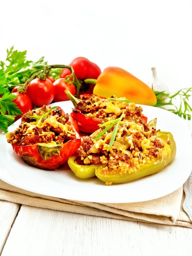
[[[69,84],[65,81],[65,78],[58,78],[54,82],[55,87],[55,97],[54,101],[68,101],[69,98],[65,94],[65,90],[69,90],[71,94],[76,94],[76,88],[73,83]]]

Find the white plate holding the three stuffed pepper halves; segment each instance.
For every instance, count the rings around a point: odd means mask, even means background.
[[[70,101],[51,104],[71,112]],[[163,171],[126,184],[106,186],[97,178],[78,179],[67,165],[58,171],[44,171],[31,167],[13,152],[5,135],[0,134],[0,179],[27,191],[68,200],[89,202],[141,202],[167,195],[187,180],[192,169],[192,138],[188,126],[172,112],[142,106],[148,121],[157,117],[157,129],[170,131],[177,145],[176,158]],[[9,127],[18,127],[20,120]]]

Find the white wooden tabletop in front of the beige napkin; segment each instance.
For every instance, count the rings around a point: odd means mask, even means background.
[[[1,256],[191,256],[192,229],[0,201]]]

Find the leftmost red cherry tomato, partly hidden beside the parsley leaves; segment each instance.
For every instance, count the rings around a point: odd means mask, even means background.
[[[29,96],[25,93],[20,92],[13,92],[14,95],[17,96],[16,99],[13,100],[14,103],[16,103],[16,106],[21,110],[22,114],[25,112],[32,110],[32,103]],[[22,115],[21,114],[21,115]],[[21,117],[21,115],[18,115],[15,118],[15,121]]]

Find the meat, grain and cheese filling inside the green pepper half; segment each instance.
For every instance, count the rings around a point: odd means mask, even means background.
[[[150,164],[157,157],[167,157],[166,144],[170,144],[170,141],[161,139],[158,132],[147,124],[121,121],[110,149],[109,141],[113,129],[95,139],[101,130],[100,128],[92,135],[83,137],[77,150],[78,164],[105,164],[101,169],[102,173],[123,175],[136,171],[144,164]]]

